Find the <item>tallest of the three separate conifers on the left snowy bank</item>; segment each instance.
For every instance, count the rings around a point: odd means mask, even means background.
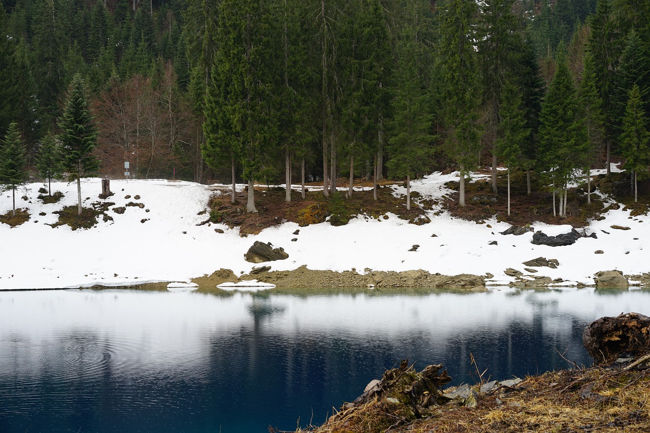
[[[86,85],[77,74],[72,78],[63,115],[59,121],[61,152],[64,168],[70,180],[77,181],[78,212],[81,215],[81,177],[92,176],[99,161],[92,154],[97,145],[97,129],[88,107]]]

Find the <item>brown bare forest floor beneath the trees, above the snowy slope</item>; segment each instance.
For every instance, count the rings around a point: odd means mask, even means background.
[[[479,174],[489,174],[484,169]],[[404,182],[382,180],[378,185],[378,200],[374,200],[372,183],[355,179],[356,188],[351,198],[347,192],[338,190],[330,197],[324,196],[322,190],[311,190],[302,199],[300,191],[292,190],[291,202],[285,201],[283,187],[255,187],[256,214],[246,214],[246,191],[238,192],[236,203],[231,203],[229,194],[213,196],[210,207],[218,213],[218,218],[213,222],[224,222],[228,226],[239,227],[240,234],[254,235],[265,228],[277,226],[282,222],[301,223],[305,209],[318,205],[330,215],[333,226],[346,224],[356,215],[367,215],[372,218],[381,218],[386,213],[394,213],[398,217],[409,220],[411,223],[424,224],[428,222],[426,212],[438,207],[447,209],[452,217],[464,220],[483,222],[493,217],[513,226],[526,226],[532,222],[546,224],[569,224],[575,228],[584,227],[588,221],[599,217],[606,203],[601,194],[591,194],[591,203],[587,203],[586,185],[579,185],[569,189],[567,194],[567,216],[553,215],[552,194],[547,187],[539,185],[539,179],[531,179],[531,194],[526,193],[525,173],[514,172],[511,179],[511,212],[508,215],[507,176],[506,172],[499,171],[497,188],[499,193],[491,189],[490,179],[477,179],[466,183],[466,206],[458,205],[458,182],[449,182],[447,187],[453,190],[443,198],[442,202],[431,199],[421,199],[418,192],[411,192],[411,209],[406,210],[406,198],[395,192],[393,187],[402,186]],[[337,179],[337,188],[347,187],[348,179]],[[610,176],[596,176],[591,184],[592,192],[596,189],[607,194],[616,192],[617,200],[629,209],[638,209],[645,213],[650,207],[650,194],[640,195],[640,200],[634,203],[630,195],[629,182],[623,173],[612,173]],[[322,183],[307,183],[306,187],[322,187]],[[363,187],[363,191],[357,190]],[[650,179],[639,183],[640,191],[650,191]],[[617,209],[617,203],[608,209]],[[306,224],[305,224],[306,225]]]

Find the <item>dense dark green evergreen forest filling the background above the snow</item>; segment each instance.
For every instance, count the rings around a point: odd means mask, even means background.
[[[16,167],[123,178],[129,161],[139,179],[326,196],[365,177],[376,197],[383,177],[454,167],[462,206],[491,166],[493,192],[497,167],[529,194],[544,174],[562,215],[590,168],[649,173],[647,0],[3,0],[0,29],[10,187]]]

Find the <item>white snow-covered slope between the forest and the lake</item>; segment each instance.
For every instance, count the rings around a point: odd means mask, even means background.
[[[458,180],[458,173],[434,173],[413,183],[413,190],[424,198],[439,198],[450,193],[445,183]],[[231,269],[247,273],[254,266],[244,261],[244,254],[254,241],[282,246],[289,259],[268,263],[272,270],[292,270],[307,265],[309,269],[373,270],[423,269],[455,275],[486,274],[491,284],[512,282],[504,270],[524,271],[521,262],[539,256],[558,259],[558,269],[538,268],[551,278],[570,283],[593,283],[599,270],[618,269],[625,274],[642,274],[650,270],[648,254],[643,252],[650,241],[650,217],[630,218],[628,211],[611,210],[605,219],[593,221],[588,231],[598,239],[581,238],[571,246],[536,246],[532,233],[521,236],[500,235],[510,225],[496,220],[476,224],[450,217],[447,213],[429,217],[423,226],[408,224],[395,215],[387,220],[357,217],[346,226],[333,227],[328,222],[298,229],[294,223],[268,228],[259,235],[240,237],[237,228],[222,224],[197,226],[207,218],[197,215],[207,209],[214,187],[166,180],[112,180],[115,195],[107,201],[124,206],[128,202],[144,203],[144,208],[127,207],[123,215],[107,211],[113,220],[90,230],[71,230],[68,226],[51,228],[57,221],[53,211],[76,203],[75,183],[53,183],[65,197],[59,203],[43,204],[38,196],[42,183],[26,185],[17,192],[17,207],[27,207],[31,219],[10,228],[0,224],[0,289],[39,289],[80,287],[94,284],[125,285],[153,281],[189,282],[190,278]],[[224,185],[225,187],[225,185]],[[243,188],[243,185],[241,185]],[[396,187],[396,192],[402,192]],[[85,205],[97,202],[101,179],[83,179]],[[19,197],[27,196],[28,200]],[[131,198],[125,198],[125,196]],[[139,195],[136,200],[134,196]],[[550,200],[550,199],[549,199]],[[0,214],[12,207],[11,192],[0,196]],[[45,215],[39,215],[45,213]],[[145,222],[141,222],[146,219]],[[491,226],[491,227],[488,227]],[[612,225],[629,227],[614,230]],[[571,230],[568,225],[532,224],[535,230],[558,235]],[[225,233],[216,233],[221,228]],[[609,234],[604,233],[607,231]],[[436,235],[432,237],[432,235]],[[291,242],[297,237],[298,241]],[[490,245],[497,241],[498,245]],[[418,244],[416,252],[409,252]],[[604,254],[594,254],[603,250]]]

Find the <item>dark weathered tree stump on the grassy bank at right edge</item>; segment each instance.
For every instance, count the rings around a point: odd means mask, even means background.
[[[638,358],[650,351],[650,317],[639,313],[601,317],[585,328],[582,345],[597,365]]]

